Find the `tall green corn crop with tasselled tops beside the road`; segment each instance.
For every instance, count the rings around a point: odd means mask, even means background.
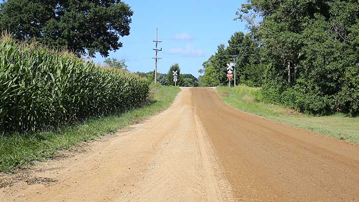
[[[55,129],[142,105],[148,83],[39,44],[0,41],[0,130]]]

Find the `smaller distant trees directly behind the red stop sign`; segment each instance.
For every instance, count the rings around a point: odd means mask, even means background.
[[[260,47],[251,34],[237,32],[228,41],[229,46],[218,46],[217,53],[203,63],[203,86],[227,85],[227,63],[236,62],[237,84],[261,86],[265,65],[260,63]]]

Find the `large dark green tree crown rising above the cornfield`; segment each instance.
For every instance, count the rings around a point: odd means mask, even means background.
[[[133,11],[117,1],[8,0],[1,4],[0,28],[18,40],[37,41],[94,57],[122,47]]]

